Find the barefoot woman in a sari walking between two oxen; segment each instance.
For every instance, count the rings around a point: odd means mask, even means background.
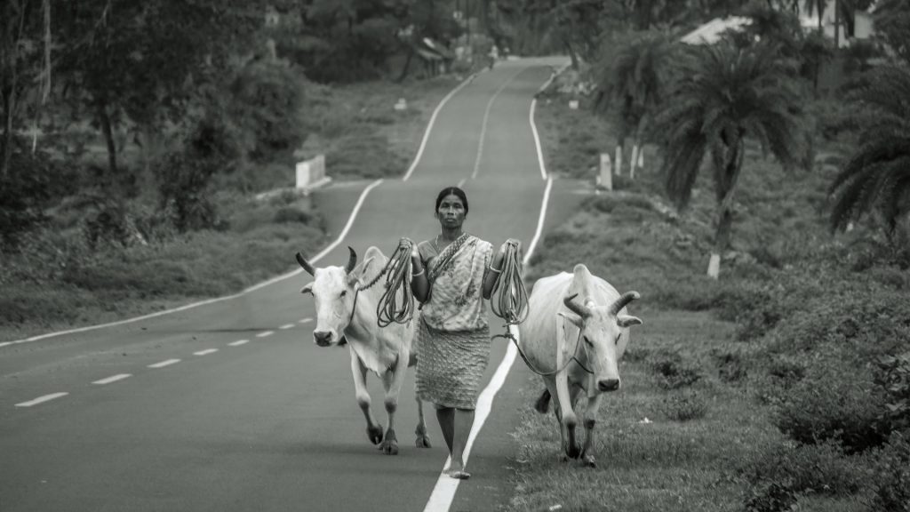
[[[502,269],[505,244],[494,255],[489,241],[461,229],[468,198],[458,187],[442,189],[435,215],[440,234],[411,252],[411,290],[420,301],[415,344],[417,394],[436,405],[449,446],[453,478],[469,478],[464,447],[474,424],[480,377],[490,358],[486,304]]]

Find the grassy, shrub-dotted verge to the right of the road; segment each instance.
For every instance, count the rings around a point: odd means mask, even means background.
[[[597,155],[615,144],[611,129],[584,101],[570,110],[549,98],[538,110],[548,167],[592,187]],[[562,463],[555,417],[522,407],[507,510],[910,506],[910,476],[895,462],[907,460],[906,418],[885,406],[906,410],[888,389],[907,386],[881,384],[905,370],[876,363],[910,351],[900,299],[910,276],[900,257],[869,249],[872,230],[826,231],[825,185],[849,150],[836,146],[823,145],[811,171],[790,172],[749,149],[718,282],[704,275],[707,174],[677,215],[664,204],[654,148],[636,179],[614,176],[614,191],[592,195],[547,235],[529,282],[584,262],[621,292],[642,293],[631,310],[644,325],[632,329],[622,390],[602,402],[597,468]],[[541,386],[527,386],[523,403]],[[877,484],[872,475],[887,477]]]

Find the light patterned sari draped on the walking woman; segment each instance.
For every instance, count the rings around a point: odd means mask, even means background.
[[[430,298],[421,305],[414,343],[417,394],[433,404],[473,409],[490,359],[482,290],[493,246],[465,233],[441,253],[429,242],[421,242],[418,250],[430,261]]]

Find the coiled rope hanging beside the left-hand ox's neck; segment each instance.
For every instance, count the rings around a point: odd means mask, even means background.
[[[376,323],[386,327],[391,323],[409,323],[414,316],[414,295],[410,290],[410,251],[414,242],[402,238],[379,275],[362,289],[366,290],[386,276],[385,291],[376,305]],[[399,290],[401,291],[399,295]]]

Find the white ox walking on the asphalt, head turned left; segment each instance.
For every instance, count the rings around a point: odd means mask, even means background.
[[[316,328],[313,341],[319,346],[348,343],[350,369],[354,375],[357,403],[367,418],[367,435],[374,445],[387,455],[398,454],[395,436],[395,412],[398,397],[408,367],[417,363],[417,353],[411,352],[414,337],[413,321],[391,323],[379,328],[376,310],[382,287],[362,289],[369,279],[376,277],[386,265],[386,257],[376,247],[367,250],[366,258],[357,265],[357,253],[348,248],[350,258],[345,267],[314,269],[297,253],[297,261],[315,281],[300,292],[311,293],[316,302]],[[385,388],[386,414],[389,428],[383,433],[382,425],[370,410],[367,390],[367,371],[382,379]],[[423,404],[417,401],[417,445],[430,447],[427,425],[423,420]]]

